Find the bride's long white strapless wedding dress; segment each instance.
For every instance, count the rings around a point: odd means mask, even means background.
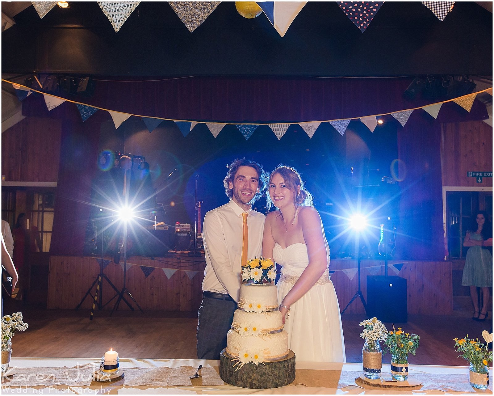
[[[329,246],[326,250],[329,263]],[[279,304],[309,264],[307,245],[294,243],[283,249],[276,243],[273,260],[282,266],[277,284]],[[346,361],[338,298],[328,269],[291,305],[289,315],[285,322],[288,348],[295,352],[297,361]]]

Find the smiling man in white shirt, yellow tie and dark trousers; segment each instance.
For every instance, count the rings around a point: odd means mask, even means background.
[[[226,333],[239,300],[241,266],[245,265],[241,262],[261,255],[266,216],[252,210],[251,204],[262,195],[267,176],[256,162],[235,160],[223,180],[230,201],[204,217],[206,269],[198,313],[198,359],[219,359],[221,350],[226,348]],[[247,218],[248,246],[243,254],[244,218]]]

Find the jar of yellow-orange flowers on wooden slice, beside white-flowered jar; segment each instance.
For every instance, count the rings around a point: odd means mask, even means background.
[[[415,356],[420,337],[405,333],[401,327],[390,331],[384,341],[384,352],[391,353],[391,377],[397,381],[408,379],[408,354]]]

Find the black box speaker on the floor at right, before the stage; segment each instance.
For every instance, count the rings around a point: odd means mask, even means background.
[[[381,322],[408,322],[407,279],[367,275],[367,314]]]

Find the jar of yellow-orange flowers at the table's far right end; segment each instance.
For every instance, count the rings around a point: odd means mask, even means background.
[[[454,339],[454,350],[460,352],[462,357],[470,363],[470,385],[476,389],[487,389],[489,386],[489,362],[493,361],[493,352],[487,349],[487,344],[482,344],[478,338],[470,340],[468,334],[465,338]]]

